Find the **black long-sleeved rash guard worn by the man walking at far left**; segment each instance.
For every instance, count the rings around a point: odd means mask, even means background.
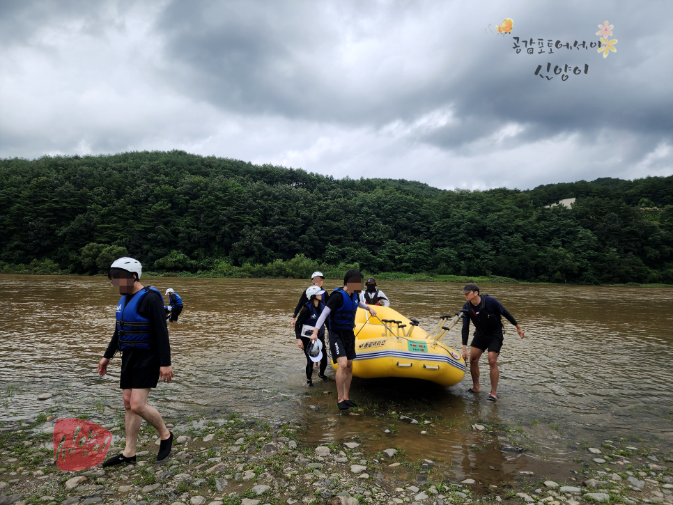
[[[138,291],[140,293],[142,290]],[[127,295],[125,298],[126,306],[128,302],[138,293]],[[164,300],[154,291],[149,291],[138,305],[138,315],[150,321],[150,335],[154,334],[155,341],[150,344],[151,349],[136,349],[134,352],[141,352],[147,359],[143,362],[151,362],[157,355],[161,366],[171,366],[171,344],[169,343],[168,328],[166,327],[166,312],[164,310]],[[118,348],[117,329],[115,326],[112,339],[107,346],[103,357],[111,359]]]

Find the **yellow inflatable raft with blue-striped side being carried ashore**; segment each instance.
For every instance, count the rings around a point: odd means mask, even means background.
[[[459,316],[442,316],[440,323],[426,332],[417,320],[410,320],[390,307],[376,306],[373,318],[364,309],[355,316],[353,375],[364,379],[405,377],[431,380],[453,386],[465,376],[461,355],[442,343]],[[331,356],[330,356],[331,358]],[[337,365],[332,364],[336,370]]]

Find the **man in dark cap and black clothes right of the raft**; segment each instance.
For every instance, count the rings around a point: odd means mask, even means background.
[[[495,298],[479,295],[479,286],[474,282],[465,284],[461,291],[465,295],[463,313],[463,358],[467,361],[467,337],[470,334],[470,321],[474,324],[474,339],[470,344],[470,373],[472,374],[472,393],[479,393],[479,358],[488,349],[488,366],[490,366],[490,395],[488,401],[497,401],[497,382],[500,371],[497,368],[497,357],[502,347],[502,316],[512,325],[523,339],[523,329],[516,323],[511,313]]]

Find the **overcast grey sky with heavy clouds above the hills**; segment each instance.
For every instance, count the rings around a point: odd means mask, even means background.
[[[588,4],[0,0],[0,157],[183,149],[469,189],[671,175],[673,2]],[[605,20],[607,58],[548,54]]]

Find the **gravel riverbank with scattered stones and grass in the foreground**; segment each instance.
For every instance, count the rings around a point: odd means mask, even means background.
[[[61,472],[53,420],[3,426],[0,505],[673,505],[672,455],[633,442],[578,447],[577,469],[566,482],[520,471],[495,485],[474,474],[456,479],[450,461],[409,460],[395,447],[373,451],[357,437],[309,445],[302,442],[305,426],[231,416],[185,419],[169,428],[176,442],[163,461],[154,461],[156,433],[144,426],[134,465]],[[497,426],[466,429],[500,451],[523,450]],[[108,456],[124,445],[123,424],[111,432],[116,442]]]

